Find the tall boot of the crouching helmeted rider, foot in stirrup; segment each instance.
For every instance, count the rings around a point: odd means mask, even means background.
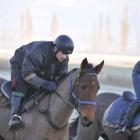
[[[11,119],[9,122],[10,129],[16,129],[22,126],[22,118],[20,116],[20,106],[21,106],[22,97],[12,96],[11,100]]]

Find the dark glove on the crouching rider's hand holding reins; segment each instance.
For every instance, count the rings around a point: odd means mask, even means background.
[[[45,92],[54,92],[56,90],[56,83],[45,81],[40,88]]]

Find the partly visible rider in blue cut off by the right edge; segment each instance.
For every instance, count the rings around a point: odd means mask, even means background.
[[[133,118],[140,109],[140,61],[138,61],[134,66],[134,69],[132,72],[132,80],[133,80],[134,90],[136,93],[136,101],[134,101],[130,105],[130,107],[122,121],[121,126],[124,126],[124,127],[117,130],[117,132],[116,132],[116,133],[125,134],[127,136],[131,135],[130,129],[131,129],[131,124],[132,124]]]

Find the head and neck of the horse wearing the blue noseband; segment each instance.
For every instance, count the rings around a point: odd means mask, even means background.
[[[71,70],[59,81],[55,94],[50,95],[47,102],[44,98],[47,104],[47,119],[53,128],[66,127],[74,108],[79,112],[83,126],[89,126],[93,122],[95,98],[100,87],[97,75],[103,64],[104,61],[94,67],[85,58],[80,69]]]

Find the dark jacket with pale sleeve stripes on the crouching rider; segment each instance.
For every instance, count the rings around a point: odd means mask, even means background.
[[[17,70],[21,70],[23,79],[38,89],[45,80],[53,80],[54,77],[68,71],[69,58],[59,62],[54,56],[53,50],[52,41],[32,42],[16,50],[11,64],[15,64],[15,62],[20,64]],[[21,56],[21,52],[23,52],[23,56]]]

